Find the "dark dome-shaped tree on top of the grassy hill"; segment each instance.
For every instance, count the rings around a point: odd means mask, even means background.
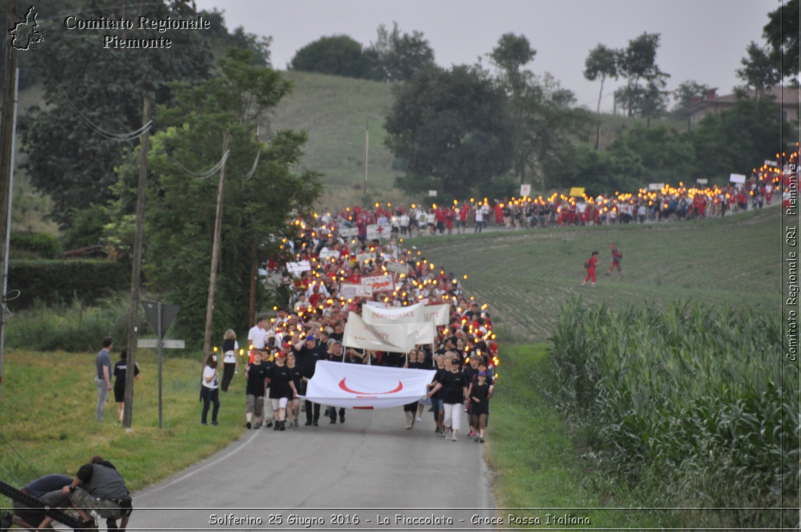
[[[293,71],[320,72],[346,78],[369,78],[371,64],[361,45],[348,35],[322,37],[297,50],[289,65]]]

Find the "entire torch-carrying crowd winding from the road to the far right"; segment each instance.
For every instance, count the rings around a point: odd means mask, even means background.
[[[798,151],[791,154],[797,159]],[[791,158],[791,162],[792,161]],[[248,350],[239,350],[235,333],[229,330],[223,342],[223,375],[219,383],[216,355],[208,357],[203,386],[202,422],[210,405],[216,423],[219,399],[216,389],[227,391],[240,365],[247,381],[248,429],[263,426],[274,430],[294,429],[305,413],[305,426],[320,422],[322,405],[304,401],[308,381],[318,361],[435,369],[429,393],[404,406],[406,429],[433,413],[435,433],[456,441],[461,413],[468,413],[469,437],[484,441],[489,400],[496,384],[498,345],[486,304],[467,298],[457,276],[404,248],[406,236],[481,232],[487,224],[497,227],[533,228],[565,225],[643,224],[673,220],[726,216],[749,208],[771,205],[775,193],[789,201],[788,168],[779,171],[766,162],[754,169],[750,179],[726,187],[698,189],[662,185],[654,191],[605,196],[557,195],[549,198],[525,196],[504,200],[453,201],[453,205],[423,208],[412,204],[375,209],[348,207],[336,215],[326,213],[313,220],[295,220],[297,236],[284,239],[282,255],[268,265],[292,280],[292,300],[286,308],[275,308],[274,316],[259,316],[248,332]],[[781,192],[779,192],[781,191]],[[382,244],[386,243],[386,244]],[[622,275],[622,252],[611,246],[610,275]],[[586,261],[586,279],[594,286],[598,252]],[[362,286],[365,277],[389,278],[380,288],[353,292],[346,286]],[[375,289],[373,289],[375,288]],[[356,295],[356,294],[359,295]],[[409,353],[376,352],[343,345],[348,312],[361,313],[365,304],[403,307],[410,304],[449,304],[449,324],[437,328],[431,345],[417,345]],[[244,354],[247,353],[247,354]],[[219,383],[219,384],[218,384]],[[326,407],[331,424],[344,423],[345,409]]]

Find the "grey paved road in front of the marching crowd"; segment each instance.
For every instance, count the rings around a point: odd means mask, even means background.
[[[445,441],[429,412],[412,430],[400,407],[346,412],[344,425],[322,417],[320,426],[307,427],[301,413],[297,429],[248,431],[215,456],[134,494],[129,530],[492,528],[470,522],[475,514],[493,515],[477,510],[493,507],[483,445],[466,437]],[[271,516],[281,522],[271,523]],[[312,518],[324,524],[305,527]]]

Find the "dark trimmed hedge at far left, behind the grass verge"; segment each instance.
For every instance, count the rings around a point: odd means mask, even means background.
[[[29,308],[36,300],[44,304],[92,303],[131,287],[131,271],[111,260],[10,260],[8,267],[9,308]]]

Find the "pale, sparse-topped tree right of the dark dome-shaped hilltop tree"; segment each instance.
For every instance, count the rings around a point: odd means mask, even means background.
[[[391,32],[381,24],[377,34],[376,42],[371,42],[366,50],[372,59],[372,79],[406,81],[434,66],[434,50],[421,31],[401,34],[397,22],[392,22]]]

